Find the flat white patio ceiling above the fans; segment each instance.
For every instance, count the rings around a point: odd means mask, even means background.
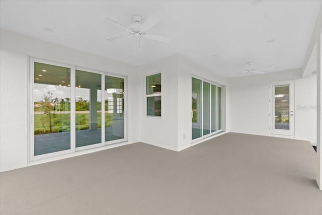
[[[0,27],[78,50],[142,65],[176,53],[226,77],[248,61],[267,72],[299,68],[321,1],[1,1]],[[124,35],[138,14],[160,19],[148,33],[171,44]],[[45,29],[53,29],[53,32]],[[268,43],[270,39],[274,42]],[[130,55],[134,57],[129,57]],[[211,55],[215,55],[211,57]]]

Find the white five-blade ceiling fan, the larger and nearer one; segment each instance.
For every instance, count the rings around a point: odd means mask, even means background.
[[[145,20],[145,22],[142,24],[140,23],[141,17],[139,15],[134,15],[133,16],[134,23],[130,24],[128,27],[126,27],[125,25],[122,25],[110,18],[106,17],[106,19],[123,27],[126,30],[126,32],[128,33],[128,35],[108,38],[108,39],[106,39],[107,41],[112,41],[115,39],[134,36],[138,40],[139,50],[141,50],[141,44],[140,44],[141,37],[146,38],[146,39],[150,39],[150,40],[165,42],[165,43],[171,43],[171,41],[172,41],[172,38],[169,38],[169,37],[163,37],[163,36],[154,35],[154,34],[146,34],[147,30],[152,28],[155,24],[157,24],[160,21],[157,17],[155,17],[153,15],[150,16],[149,18],[147,18],[147,20]]]

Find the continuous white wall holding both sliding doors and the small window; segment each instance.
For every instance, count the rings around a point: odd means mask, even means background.
[[[134,66],[6,30],[1,30],[0,36],[1,172],[119,146],[116,144],[28,163],[29,56],[127,76],[128,143],[142,141],[174,151],[191,146],[191,75],[227,86],[226,78],[184,56],[174,55],[147,65]],[[162,73],[162,118],[145,117],[145,76],[159,72]],[[225,114],[228,122],[228,88],[226,93]],[[226,130],[229,130],[228,125]]]

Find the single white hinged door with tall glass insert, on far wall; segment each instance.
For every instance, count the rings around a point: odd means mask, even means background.
[[[270,132],[294,136],[294,80],[270,85]]]

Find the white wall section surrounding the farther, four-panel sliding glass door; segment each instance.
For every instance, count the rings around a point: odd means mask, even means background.
[[[228,79],[215,74],[208,68],[198,65],[187,57],[179,55],[178,64],[178,151],[191,146],[191,76],[198,76],[226,87],[226,122],[229,122],[229,87]],[[229,131],[229,123],[225,130]],[[186,138],[184,139],[184,134]]]

